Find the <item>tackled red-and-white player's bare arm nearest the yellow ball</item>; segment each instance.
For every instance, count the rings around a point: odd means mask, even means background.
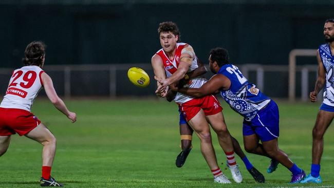
[[[166,73],[163,67],[163,62],[162,59],[159,57],[159,55],[154,54],[152,59],[151,59],[151,64],[153,67],[153,71],[154,71],[154,75],[156,78],[158,78],[159,80],[164,80],[166,79]],[[159,87],[161,84],[159,82],[157,82],[157,87]],[[157,96],[159,97],[165,97],[167,91],[166,90],[162,90],[161,92],[156,92]]]

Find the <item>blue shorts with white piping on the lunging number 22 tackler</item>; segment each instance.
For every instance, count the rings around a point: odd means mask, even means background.
[[[244,120],[243,135],[256,134],[261,141],[269,141],[280,136],[280,114],[279,107],[271,100],[269,104],[257,112],[251,120]]]

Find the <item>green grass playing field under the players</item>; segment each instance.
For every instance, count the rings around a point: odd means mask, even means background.
[[[290,185],[291,174],[282,165],[272,173],[268,158],[247,154],[265,175],[266,183],[256,184],[242,160],[241,184],[215,184],[203,159],[197,136],[193,150],[182,168],[175,166],[180,152],[178,112],[174,103],[163,100],[66,100],[78,121],[70,121],[45,99],[34,103],[32,112],[57,138],[52,176],[66,187],[334,187],[334,129],[325,135],[322,157],[323,184]],[[311,163],[311,130],[318,104],[277,101],[280,107],[280,148],[308,174]],[[242,117],[227,104],[224,115],[228,128],[242,144]],[[225,155],[213,134],[214,147],[222,171]],[[243,147],[243,144],[242,144]],[[1,187],[38,187],[41,177],[42,146],[25,137],[12,136],[7,153],[1,157]]]

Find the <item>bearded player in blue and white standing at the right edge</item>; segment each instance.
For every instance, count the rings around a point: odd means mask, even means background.
[[[320,160],[324,150],[324,134],[334,118],[334,19],[325,21],[324,36],[327,43],[320,45],[317,51],[318,78],[314,90],[310,92],[310,101],[316,102],[319,91],[323,89],[324,101],[312,130],[311,173],[302,183],[322,183]]]

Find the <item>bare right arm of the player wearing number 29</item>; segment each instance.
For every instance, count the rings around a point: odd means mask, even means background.
[[[67,116],[68,119],[72,120],[72,123],[76,122],[76,113],[69,111],[63,100],[58,97],[57,92],[55,92],[54,90],[52,79],[45,72],[42,73],[41,78],[46,95],[48,96],[54,107],[61,111],[65,116]]]

